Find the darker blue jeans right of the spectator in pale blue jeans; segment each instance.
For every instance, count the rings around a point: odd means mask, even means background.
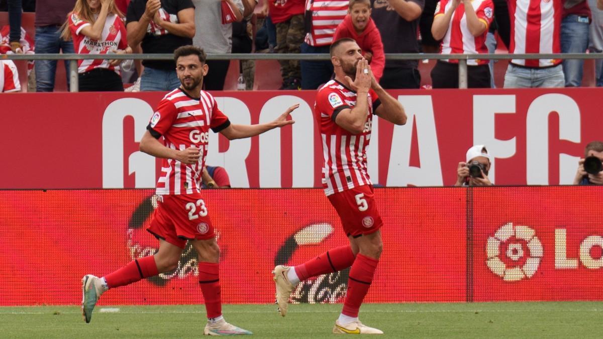
[[[589,47],[589,19],[570,14],[561,21],[561,52],[584,53]],[[584,60],[563,60],[566,87],[579,87],[582,84]]]

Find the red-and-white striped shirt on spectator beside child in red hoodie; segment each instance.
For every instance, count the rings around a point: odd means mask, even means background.
[[[305,42],[310,46],[327,46],[333,42],[335,29],[347,14],[349,1],[306,0],[306,11],[312,11],[312,28]]]

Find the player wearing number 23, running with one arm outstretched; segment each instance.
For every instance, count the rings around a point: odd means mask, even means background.
[[[207,311],[206,335],[251,334],[227,323],[222,316],[219,281],[219,247],[209,211],[201,194],[201,171],[207,155],[209,129],[229,140],[249,138],[276,127],[293,124],[289,107],[272,122],[256,125],[231,124],[203,90],[207,74],[206,54],[195,46],[182,46],[174,51],[180,87],[159,102],[140,150],[162,158],[162,174],[157,180],[157,209],[148,231],[159,239],[155,255],[136,259],[104,277],[88,274],[82,282],[82,311],[90,322],[98,298],[109,288],[132,284],[140,279],[174,270],[191,241],[198,253],[199,284]],[[163,136],[163,142],[159,138]]]

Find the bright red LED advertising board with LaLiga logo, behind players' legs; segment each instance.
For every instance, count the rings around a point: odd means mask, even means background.
[[[0,191],[0,306],[75,305],[80,279],[151,255],[148,189]],[[221,247],[225,303],[272,303],[271,270],[347,242],[321,189],[204,191]],[[603,188],[377,188],[384,255],[367,302],[603,300]],[[294,302],[341,302],[347,273]],[[202,303],[187,247],[175,271],[99,305]]]

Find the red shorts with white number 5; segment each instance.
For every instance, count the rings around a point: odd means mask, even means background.
[[[383,221],[377,211],[373,186],[362,185],[329,195],[329,201],[337,211],[347,236],[358,237],[377,232]]]

